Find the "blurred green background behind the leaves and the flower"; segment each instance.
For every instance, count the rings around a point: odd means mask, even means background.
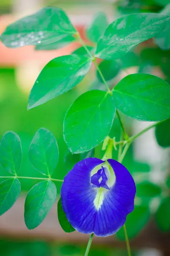
[[[93,19],[98,11],[105,11],[109,20],[116,17],[134,12],[160,12],[170,1],[168,0],[0,0],[0,31],[11,22],[13,16],[20,16],[23,13],[34,12],[35,10],[46,6],[53,5],[65,9],[75,26],[78,26],[82,35],[85,36],[85,28]],[[23,8],[23,9],[22,9]],[[0,45],[0,51],[3,46]],[[14,50],[15,51],[15,50]],[[27,51],[27,48],[25,48]],[[24,52],[22,52],[23,54]],[[44,52],[41,52],[42,59]],[[68,54],[68,52],[65,52]],[[33,55],[34,56],[34,55]],[[8,64],[6,64],[8,58]],[[46,57],[45,57],[46,58]],[[24,59],[24,56],[23,56]],[[37,59],[36,59],[37,61]],[[36,74],[32,72],[31,65],[34,61],[10,64],[10,55],[2,57],[0,55],[0,138],[6,131],[16,132],[20,138],[23,148],[23,161],[20,168],[20,176],[43,177],[37,172],[29,162],[28,149],[35,132],[45,127],[49,129],[57,139],[59,145],[59,164],[54,171],[52,177],[63,179],[68,170],[75,163],[75,156],[71,156],[70,162],[65,163],[68,148],[63,140],[63,119],[68,107],[83,92],[89,89],[103,89],[103,84],[96,78],[96,71],[92,68],[91,72],[85,79],[73,90],[68,91],[64,95],[53,99],[44,105],[27,111],[28,94],[36,79]],[[43,61],[42,61],[43,62]],[[41,60],[37,63],[37,70],[41,70],[44,62]],[[34,65],[36,65],[36,63]],[[35,67],[35,66],[34,66]],[[156,76],[170,81],[170,50],[161,49],[150,40],[139,47],[133,49],[122,60],[122,67],[113,79],[109,81],[110,86],[114,86],[119,79],[129,73],[151,73]],[[140,122],[133,122],[132,119],[122,116],[129,134],[133,134],[139,127],[144,127]],[[166,129],[165,129],[166,127]],[[159,131],[160,130],[160,131]],[[162,143],[162,133],[164,137],[170,131],[170,122],[159,128],[157,131],[157,140],[159,145]],[[110,133],[111,137],[116,137],[116,141],[120,138],[120,126],[117,119],[113,122]],[[124,164],[133,175],[137,193],[135,199],[135,210],[127,218],[127,233],[133,247],[133,255],[136,256],[168,256],[170,255],[170,151],[161,149],[156,143],[154,131],[151,137],[143,137],[142,144],[132,145],[125,157]],[[159,140],[160,139],[160,140]],[[146,155],[139,157],[140,147],[144,149],[144,145],[149,140],[152,145],[150,151],[153,151],[154,157],[150,159]],[[166,140],[167,141],[167,140]],[[146,144],[148,145],[148,144]],[[146,147],[145,145],[145,147]],[[104,152],[101,150],[102,145],[95,148],[95,156],[102,157]],[[146,152],[147,152],[146,148]],[[117,151],[113,150],[113,158],[116,159]],[[68,158],[67,158],[68,159]],[[77,159],[77,158],[76,158]],[[159,159],[157,161],[156,159]],[[68,167],[69,166],[69,167]],[[0,176],[10,176],[0,166]],[[3,180],[1,178],[1,180]],[[36,183],[36,180],[20,180],[23,196]],[[57,183],[58,194],[60,191],[60,183]],[[56,210],[57,212],[57,210]],[[6,219],[6,224],[0,222],[0,255],[2,256],[64,256],[84,255],[85,244],[88,238],[84,240],[70,242],[67,234],[62,239],[56,241],[49,239],[48,234],[43,234],[43,239],[32,237],[31,234],[24,232],[20,227],[16,227],[16,236],[6,233],[8,227],[8,218],[12,219],[15,214],[10,209]],[[57,220],[57,214],[56,219]],[[10,229],[9,229],[10,230]],[[33,231],[34,232],[34,231]],[[43,241],[42,241],[43,240]],[[107,243],[107,238],[102,239],[100,244],[93,243],[89,256],[126,256],[124,233],[119,230],[116,236]],[[147,248],[147,249],[146,249]]]

